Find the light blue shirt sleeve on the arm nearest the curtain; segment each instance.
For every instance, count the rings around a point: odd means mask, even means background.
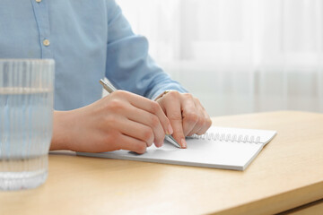
[[[170,79],[148,54],[148,41],[135,35],[114,0],[107,1],[108,46],[106,77],[119,90],[154,99],[164,90],[187,92]]]

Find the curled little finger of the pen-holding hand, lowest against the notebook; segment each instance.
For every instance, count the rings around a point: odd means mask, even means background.
[[[126,134],[118,135],[116,140],[117,150],[131,150],[138,154],[143,154],[146,151],[146,142],[140,141]]]

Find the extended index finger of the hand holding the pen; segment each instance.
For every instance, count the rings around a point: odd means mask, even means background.
[[[148,111],[155,116],[158,116],[165,133],[171,134],[173,132],[170,125],[170,120],[167,118],[167,116],[165,116],[164,112],[162,111],[162,108],[156,101],[146,99],[142,96],[135,95],[134,93],[125,92],[125,94],[130,104],[137,108]]]

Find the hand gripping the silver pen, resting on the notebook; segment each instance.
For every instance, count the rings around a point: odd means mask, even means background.
[[[144,153],[153,142],[161,147],[166,133],[173,131],[157,102],[117,90],[89,106],[55,111],[50,150]]]

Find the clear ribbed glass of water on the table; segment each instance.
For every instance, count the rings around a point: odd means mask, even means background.
[[[54,65],[0,59],[0,190],[34,188],[47,179]]]

